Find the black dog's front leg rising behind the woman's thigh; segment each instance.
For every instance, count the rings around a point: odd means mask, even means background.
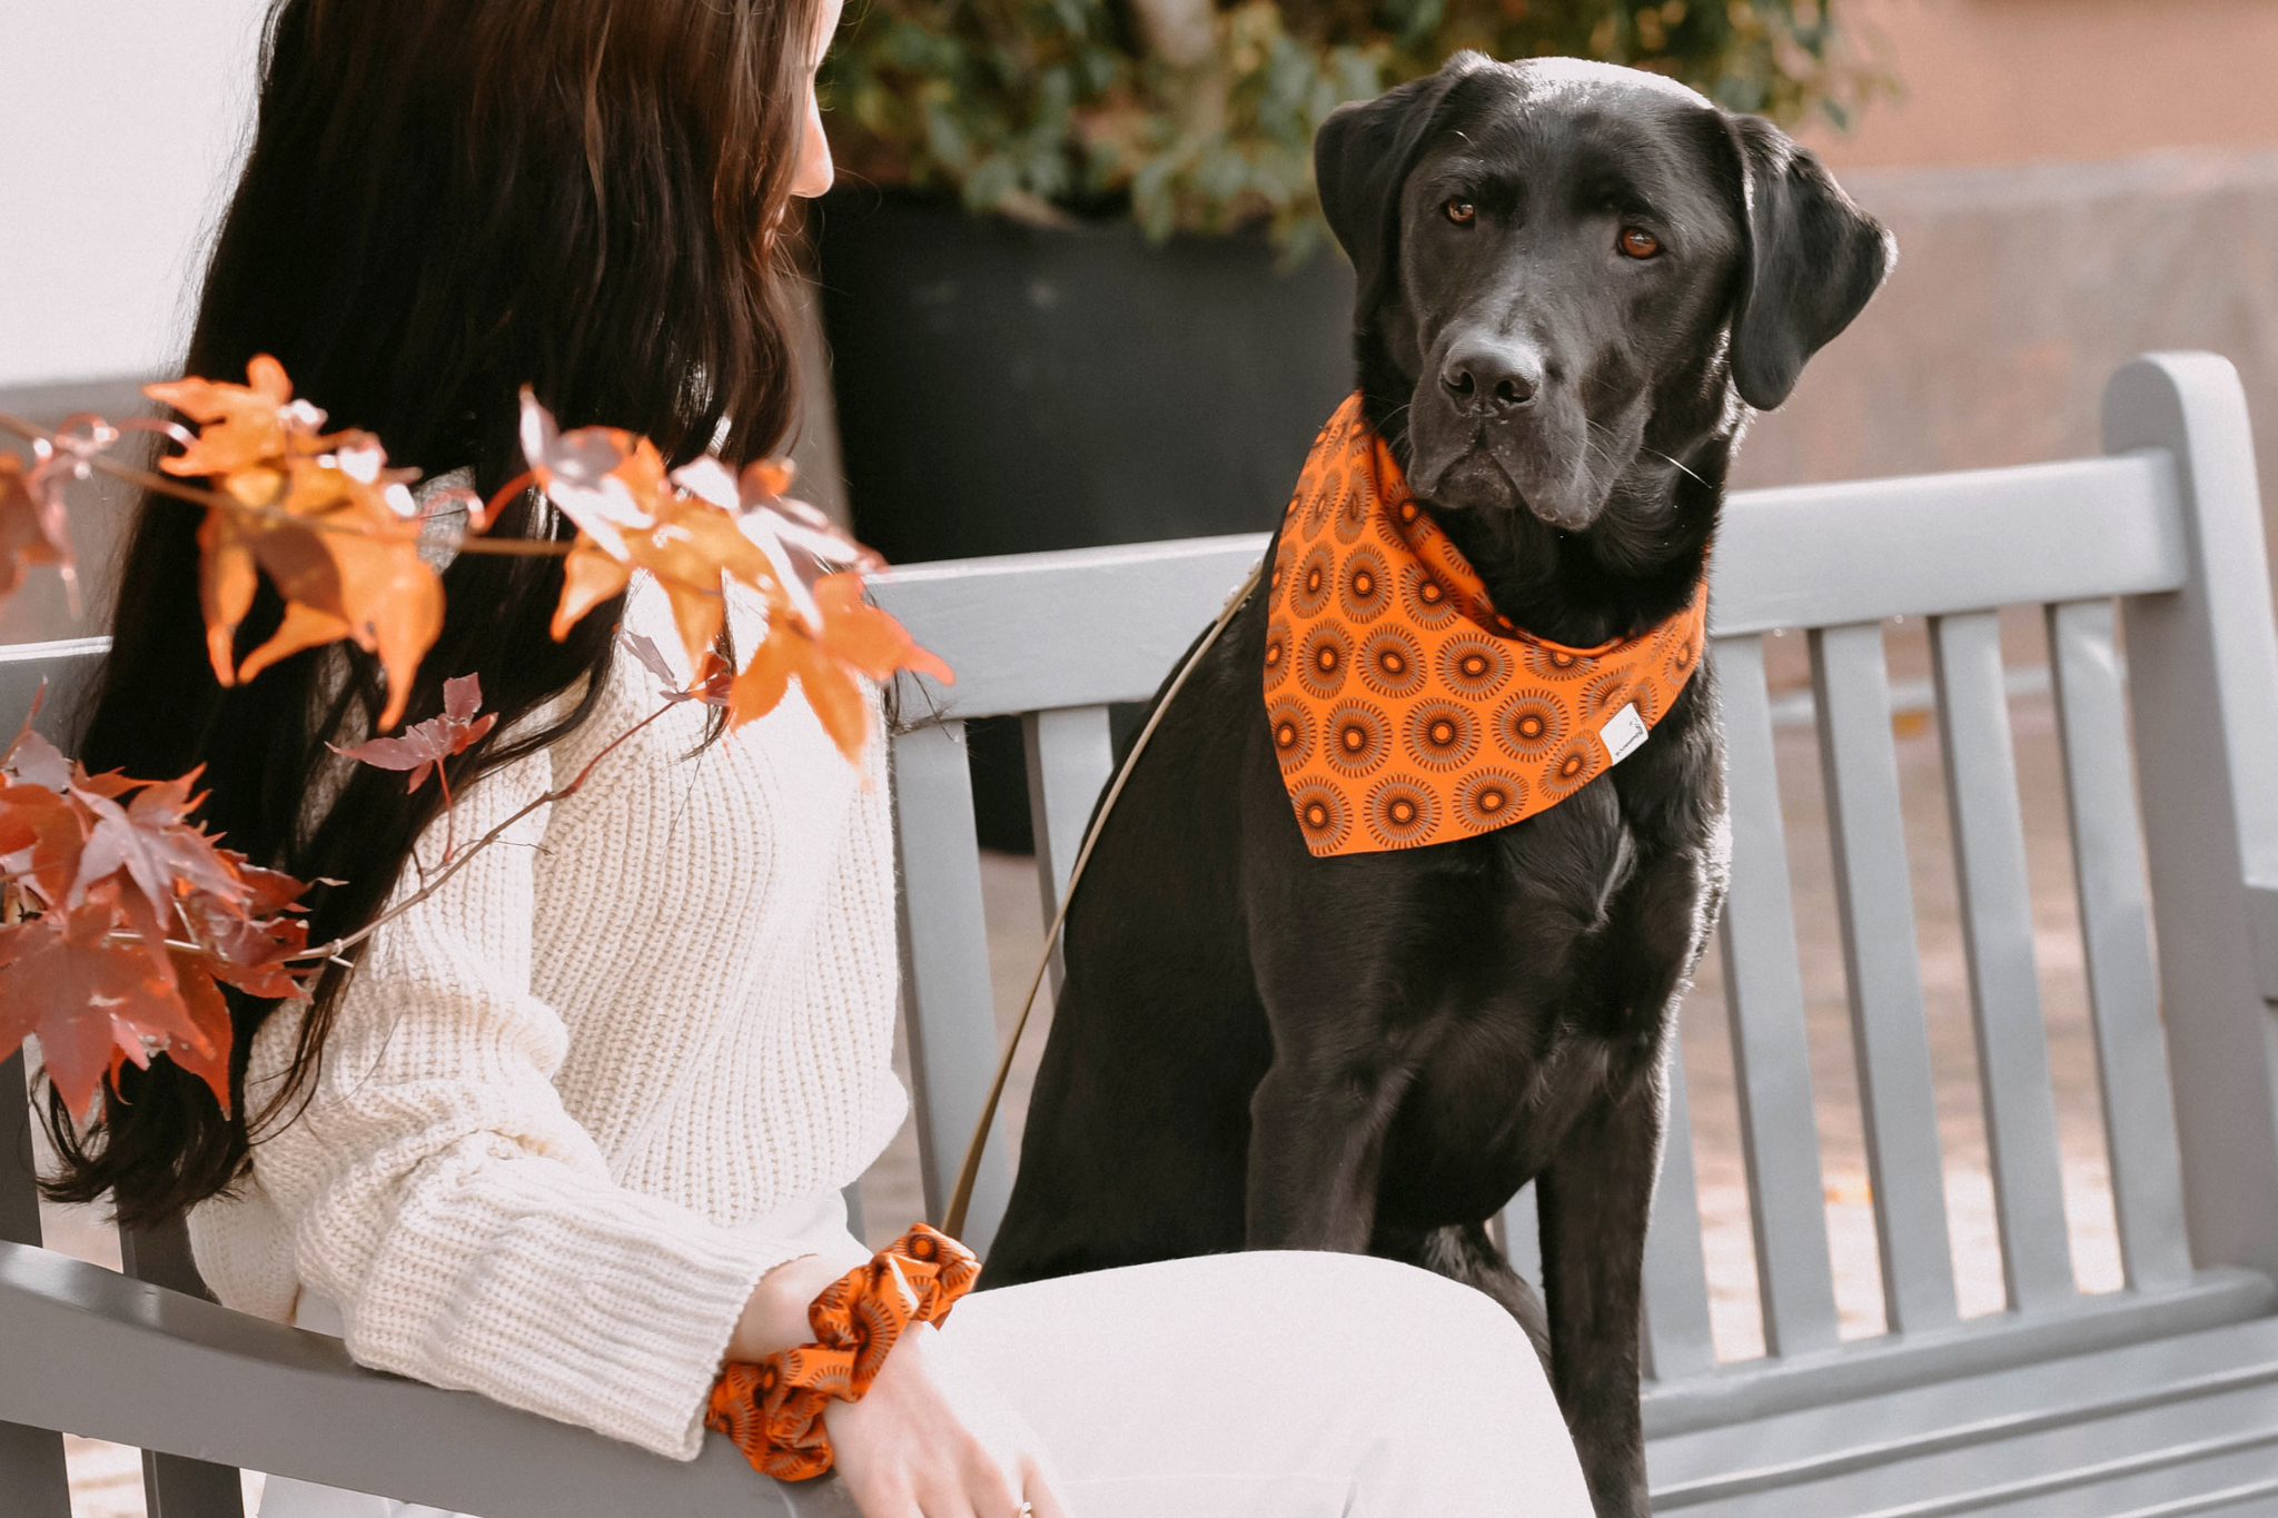
[[[1408,1090],[1406,1072],[1371,1074],[1276,1056],[1251,1095],[1246,1247],[1367,1252],[1385,1129]]]

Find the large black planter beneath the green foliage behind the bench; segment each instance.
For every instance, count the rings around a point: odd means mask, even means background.
[[[875,189],[816,244],[854,528],[895,562],[1267,530],[1353,385],[1335,253]],[[1018,781],[1018,733],[975,733],[984,844],[1027,847]]]

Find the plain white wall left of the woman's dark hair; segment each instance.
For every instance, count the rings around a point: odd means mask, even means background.
[[[180,360],[267,0],[0,0],[0,387]]]

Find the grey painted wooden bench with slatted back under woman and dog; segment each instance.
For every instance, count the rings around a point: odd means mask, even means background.
[[[2205,355],[2112,382],[2107,457],[1754,492],[1711,601],[1731,746],[1722,965],[1768,1352],[1718,1363],[1683,1086],[1647,1243],[1656,1511],[1750,1518],[2278,1513],[2278,633],[2244,401]],[[882,605],[959,671],[893,740],[902,960],[925,1206],[939,1215],[995,1056],[964,721],[1021,715],[1050,915],[1144,701],[1262,551],[1198,539],[918,564]],[[2125,1290],[2066,1249],[1996,610],[2039,605]],[[1882,619],[1927,617],[1961,878],[2007,1311],[1957,1313]],[[2125,678],[2116,630],[2125,619]],[[1761,640],[1809,633],[1888,1331],[1841,1340]],[[77,653],[84,665],[87,653]],[[0,662],[0,717],[57,646]],[[2157,933],[2160,954],[2153,956]],[[9,1090],[0,1081],[0,1117]],[[0,1127],[0,1142],[7,1129]],[[968,1238],[1009,1168],[993,1140]],[[30,1222],[27,1222],[30,1220]],[[1506,1213],[1533,1268],[1531,1199]],[[337,1343],[36,1249],[0,1174],[0,1493],[59,1518],[55,1436],[380,1488],[487,1518],[752,1511],[693,1468],[355,1370]],[[169,1240],[137,1245],[164,1274]],[[173,1261],[180,1270],[180,1261]],[[175,1284],[191,1286],[175,1277]],[[185,1491],[212,1468],[162,1463]],[[39,1482],[50,1482],[46,1488]],[[638,1493],[638,1495],[633,1495]],[[162,1493],[164,1498],[164,1493]],[[212,1502],[212,1498],[205,1498]],[[831,1502],[781,1498],[786,1511]],[[41,1504],[43,1502],[43,1504]],[[230,1498],[235,1502],[235,1495]],[[731,1507],[734,1504],[734,1507]],[[162,1500],[164,1518],[232,1511]],[[765,1507],[761,1511],[768,1511]]]

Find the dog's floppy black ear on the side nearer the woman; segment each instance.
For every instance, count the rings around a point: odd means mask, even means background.
[[[1401,184],[1417,148],[1440,116],[1440,102],[1467,73],[1485,66],[1478,52],[1458,52],[1440,73],[1385,91],[1376,100],[1339,105],[1312,137],[1312,180],[1321,216],[1353,259],[1360,287],[1358,321],[1376,310],[1401,248]]]

